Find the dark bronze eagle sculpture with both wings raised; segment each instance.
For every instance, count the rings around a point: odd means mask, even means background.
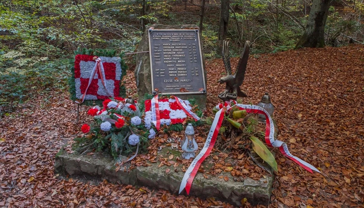
[[[248,97],[240,90],[240,85],[244,81],[246,64],[248,63],[250,41],[246,41],[244,50],[241,53],[238,66],[236,67],[235,74],[232,75],[229,55],[229,41],[224,40],[222,47],[222,60],[225,65],[226,76],[219,79],[218,83],[225,83],[225,90],[218,95],[222,101],[229,101],[230,99],[236,101],[237,97]]]

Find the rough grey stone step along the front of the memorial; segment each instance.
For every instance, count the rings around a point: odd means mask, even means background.
[[[126,164],[130,165],[130,163]],[[115,161],[102,152],[95,152],[92,155],[76,155],[61,150],[55,158],[56,173],[69,174],[70,176],[99,177],[111,183],[164,189],[178,195],[184,172],[173,171],[173,166],[164,165],[158,168],[158,165],[159,162],[155,162],[151,163],[150,166],[140,166],[126,172],[121,168],[115,172]],[[171,169],[168,173],[166,173],[167,168]],[[240,177],[241,181],[234,181],[228,172],[222,172],[220,175],[228,177],[229,180],[225,181],[213,175],[205,178],[202,173],[197,173],[190,190],[190,196],[197,196],[201,199],[214,197],[216,200],[225,201],[235,206],[240,206],[241,200],[244,198],[248,199],[252,205],[269,204],[270,193],[272,192],[272,176],[266,176],[258,181]],[[186,195],[186,191],[182,193]]]

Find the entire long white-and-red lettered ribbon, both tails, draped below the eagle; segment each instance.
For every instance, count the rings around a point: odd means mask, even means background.
[[[202,164],[203,160],[209,156],[211,149],[214,147],[216,137],[218,135],[222,120],[224,118],[225,109],[230,109],[230,107],[237,106],[240,110],[246,110],[247,113],[258,113],[265,115],[266,118],[266,128],[265,128],[265,141],[270,147],[277,147],[279,148],[280,152],[284,154],[284,156],[290,158],[302,168],[306,169],[310,173],[313,173],[312,170],[321,173],[317,168],[312,166],[311,164],[301,160],[300,158],[293,156],[288,151],[288,146],[285,142],[274,140],[274,124],[273,120],[268,114],[268,112],[260,106],[256,105],[243,105],[243,104],[236,104],[230,106],[232,102],[227,102],[226,106],[219,109],[216,113],[212,126],[210,128],[209,135],[207,136],[205,145],[203,146],[201,152],[197,155],[197,157],[192,161],[189,168],[186,170],[185,175],[181,181],[181,185],[179,187],[179,193],[186,189],[187,195],[190,193],[190,188],[193,182],[193,179],[198,171],[199,166]]]

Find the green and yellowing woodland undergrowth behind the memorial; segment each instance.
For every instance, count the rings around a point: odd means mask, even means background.
[[[223,2],[226,0],[223,0]],[[219,58],[218,0],[3,0],[0,3],[0,114],[35,94],[65,89],[67,59],[77,48],[134,52],[145,25],[202,26],[206,59]],[[204,4],[202,6],[202,4]],[[225,36],[232,56],[245,40],[252,54],[294,48],[310,0],[231,0]],[[226,8],[225,8],[226,9]],[[328,46],[363,42],[363,0],[332,0],[325,25]],[[349,38],[348,38],[349,37]],[[259,56],[259,55],[255,55]],[[130,70],[133,56],[125,57]]]

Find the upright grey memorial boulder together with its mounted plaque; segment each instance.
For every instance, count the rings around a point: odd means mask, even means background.
[[[206,108],[206,70],[197,25],[153,24],[139,44],[138,52],[142,51],[150,52],[137,55],[139,97],[173,94],[181,99],[195,98]]]

